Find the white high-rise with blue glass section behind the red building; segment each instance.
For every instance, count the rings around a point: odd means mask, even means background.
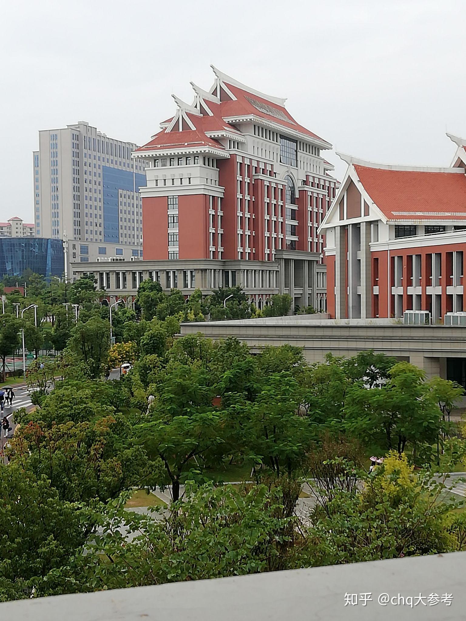
[[[132,159],[132,142],[108,138],[80,121],[41,130],[33,152],[37,237],[68,240],[73,263],[142,256],[145,163]]]

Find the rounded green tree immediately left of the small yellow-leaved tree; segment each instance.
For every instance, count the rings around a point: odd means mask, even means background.
[[[68,341],[68,347],[86,363],[91,377],[98,378],[103,373],[108,359],[109,322],[96,316],[86,322],[78,321]]]

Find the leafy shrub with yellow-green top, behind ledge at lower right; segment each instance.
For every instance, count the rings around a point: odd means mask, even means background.
[[[405,456],[391,453],[362,484],[340,489],[316,505],[308,530],[308,563],[358,563],[455,549],[447,531],[451,507],[439,501],[444,484],[414,474]],[[322,494],[326,492],[321,491]]]

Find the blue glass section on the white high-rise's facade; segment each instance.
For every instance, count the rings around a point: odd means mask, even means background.
[[[145,175],[102,166],[104,186],[104,242],[121,243],[119,233],[119,191],[139,192],[147,185]]]

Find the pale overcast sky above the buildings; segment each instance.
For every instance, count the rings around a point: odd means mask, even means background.
[[[0,9],[0,220],[32,221],[39,129],[147,142],[210,65],[287,97],[336,150],[450,165],[466,137],[466,0],[16,0]],[[345,165],[334,152],[327,159]]]

